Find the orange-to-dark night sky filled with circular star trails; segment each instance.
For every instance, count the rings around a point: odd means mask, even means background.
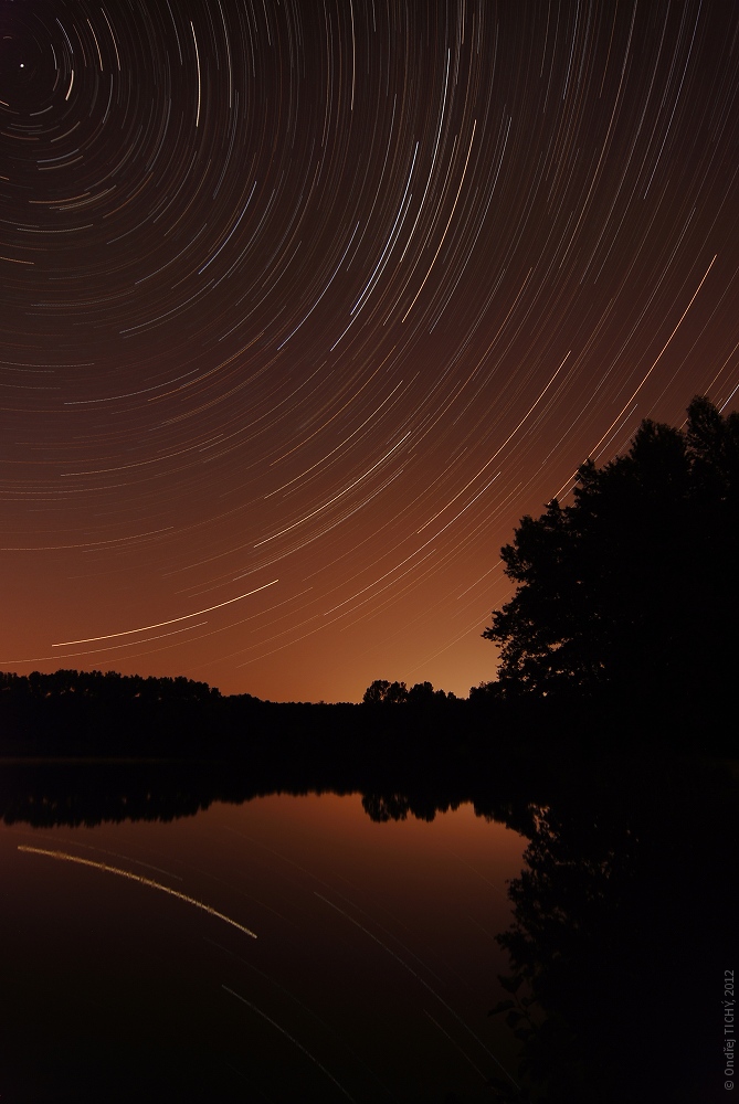
[[[0,669],[466,694],[521,516],[737,405],[732,0],[0,0]]]

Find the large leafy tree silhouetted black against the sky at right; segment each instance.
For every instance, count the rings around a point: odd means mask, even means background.
[[[739,414],[705,397],[685,429],[644,421],[625,456],[581,466],[574,503],[502,550],[518,584],[483,636],[521,691],[722,693],[736,666]]]

